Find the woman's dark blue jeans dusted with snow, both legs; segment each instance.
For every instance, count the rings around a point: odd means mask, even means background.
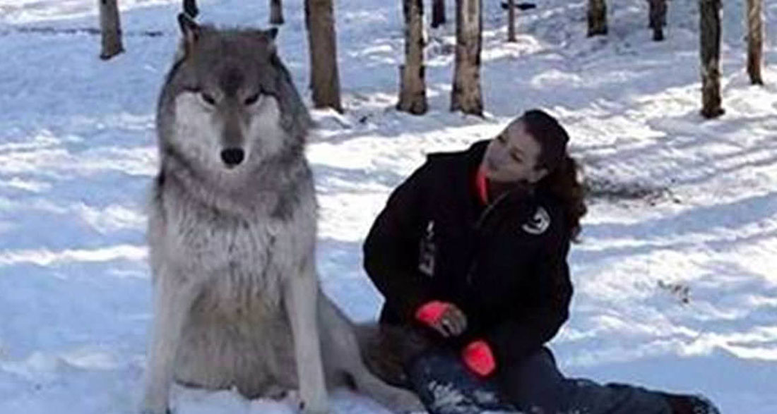
[[[430,414],[672,412],[664,397],[644,388],[564,378],[547,348],[487,379],[472,374],[457,354],[435,349],[413,360],[408,377]]]

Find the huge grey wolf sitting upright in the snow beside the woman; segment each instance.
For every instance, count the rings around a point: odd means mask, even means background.
[[[348,385],[396,412],[413,393],[368,370],[354,326],[322,294],[311,119],[278,57],[277,29],[216,29],[179,15],[157,106],[160,167],[148,218],[152,339],[142,412],[172,381],[249,398],[298,389],[329,412]]]

